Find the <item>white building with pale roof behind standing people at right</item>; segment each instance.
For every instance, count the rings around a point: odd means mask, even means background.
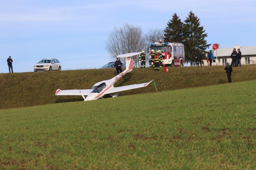
[[[234,48],[236,51],[239,48],[242,53],[241,65],[256,64],[256,46],[240,47],[239,45],[235,45],[234,47],[219,48],[214,50],[213,55],[216,62],[212,63],[212,65],[226,65],[226,63],[231,63],[232,59],[230,55],[232,54]]]

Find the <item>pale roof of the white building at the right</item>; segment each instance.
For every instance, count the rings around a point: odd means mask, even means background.
[[[239,46],[238,46],[239,47]],[[233,49],[236,48],[237,51],[237,46],[235,47],[227,47],[227,48],[219,48],[217,50],[214,50],[213,55],[216,57],[227,57],[230,56],[231,53],[233,52]],[[256,55],[256,46],[242,46],[239,48],[242,56],[243,55]]]

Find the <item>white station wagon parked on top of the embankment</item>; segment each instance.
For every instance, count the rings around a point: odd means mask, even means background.
[[[36,65],[34,65],[34,71],[51,71],[51,70],[61,70],[60,61],[56,58],[52,59],[41,59]]]

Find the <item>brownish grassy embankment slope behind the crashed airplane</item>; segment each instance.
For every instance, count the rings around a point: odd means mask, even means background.
[[[158,91],[183,89],[227,83],[224,66],[168,67],[159,72],[151,68],[133,68],[115,83],[115,87],[149,82],[154,79]],[[233,68],[232,82],[256,79],[256,65]],[[0,109],[82,101],[81,96],[55,96],[57,89],[91,89],[98,81],[113,78],[114,69],[65,70],[54,72],[23,72],[0,74]],[[151,83],[145,88],[119,92],[119,95],[156,91]],[[218,92],[213,89],[213,92]]]

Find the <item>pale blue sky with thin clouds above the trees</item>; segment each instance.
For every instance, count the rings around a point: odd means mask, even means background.
[[[0,0],[0,73],[33,72],[42,58],[62,70],[100,68],[112,61],[105,42],[125,23],[164,29],[177,13],[200,18],[208,44],[256,45],[255,0]]]

